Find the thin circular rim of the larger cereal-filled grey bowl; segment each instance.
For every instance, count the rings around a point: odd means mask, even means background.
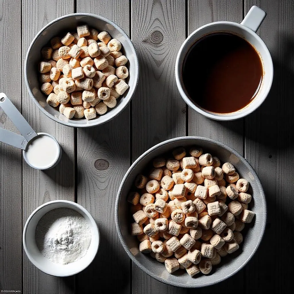
[[[237,156],[241,162],[243,164],[245,164],[245,166],[250,170],[250,172],[254,175],[254,177],[256,177],[256,181],[257,181],[257,185],[261,187],[261,191],[262,193],[260,193],[260,197],[261,197],[261,201],[263,203],[263,205],[265,206],[265,211],[263,212],[263,216],[260,217],[260,221],[263,222],[263,226],[262,226],[262,230],[260,232],[260,234],[257,236],[258,238],[258,242],[255,246],[255,248],[253,248],[251,254],[247,257],[247,259],[245,260],[245,262],[243,264],[241,264],[233,273],[230,273],[228,276],[226,276],[225,278],[216,278],[213,282],[211,283],[206,283],[206,284],[196,284],[196,285],[187,285],[187,284],[177,284],[177,283],[173,283],[173,282],[169,282],[167,280],[164,280],[163,278],[153,274],[152,272],[150,272],[144,265],[142,265],[141,263],[138,262],[138,260],[135,258],[135,256],[131,253],[131,251],[129,250],[123,235],[121,233],[121,228],[120,228],[120,223],[119,223],[119,219],[118,219],[118,206],[119,206],[119,202],[120,202],[120,198],[121,198],[121,191],[123,189],[124,184],[126,183],[126,179],[128,178],[129,174],[133,171],[134,167],[138,164],[139,161],[141,161],[142,158],[144,158],[146,155],[148,155],[151,151],[154,151],[168,143],[171,142],[175,142],[175,141],[183,141],[183,140],[202,140],[205,142],[209,142],[209,143],[213,143],[216,144],[228,151],[230,151],[231,153],[233,153],[235,156]],[[253,167],[250,165],[250,163],[237,151],[233,150],[232,148],[230,148],[229,146],[225,145],[224,143],[221,143],[219,141],[213,140],[213,139],[209,139],[209,138],[204,138],[204,137],[198,137],[198,136],[183,136],[183,137],[177,137],[177,138],[172,138],[172,139],[168,139],[166,141],[163,141],[161,143],[156,144],[155,146],[149,148],[147,151],[145,151],[141,156],[139,156],[136,161],[134,161],[134,163],[131,165],[131,167],[128,169],[128,171],[126,172],[126,174],[124,175],[121,184],[118,188],[118,193],[116,196],[116,202],[115,202],[115,223],[116,223],[116,230],[119,236],[119,239],[121,241],[121,244],[123,245],[124,250],[126,251],[126,253],[128,254],[128,256],[131,258],[131,260],[141,269],[143,270],[143,272],[145,272],[147,275],[151,276],[152,278],[171,285],[171,286],[176,286],[176,287],[183,287],[183,288],[201,288],[201,287],[205,287],[205,286],[211,286],[217,283],[220,283],[223,280],[226,280],[228,278],[230,278],[231,276],[235,275],[235,273],[237,273],[239,270],[241,270],[247,263],[248,261],[253,257],[253,255],[255,254],[257,248],[260,245],[261,240],[263,239],[263,235],[264,235],[264,231],[265,231],[265,225],[266,225],[266,219],[267,219],[267,205],[266,205],[266,199],[265,199],[265,194],[263,191],[263,187],[260,183],[260,180],[257,176],[257,173],[255,172],[255,170],[253,169]],[[216,276],[217,277],[217,276]]]

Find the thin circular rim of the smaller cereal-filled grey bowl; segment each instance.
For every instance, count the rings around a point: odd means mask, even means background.
[[[29,61],[29,55],[30,55],[30,52],[31,52],[31,48],[32,46],[35,44],[36,40],[39,38],[39,36],[44,32],[46,31],[46,29],[48,29],[52,24],[62,20],[62,19],[65,19],[65,18],[68,18],[68,17],[76,17],[76,16],[90,16],[90,17],[93,17],[93,18],[96,18],[96,19],[100,19],[102,21],[105,21],[106,23],[108,24],[111,24],[115,29],[117,29],[129,42],[129,45],[133,51],[133,55],[134,55],[134,60],[135,60],[135,73],[134,73],[134,86],[133,88],[129,89],[127,95],[125,98],[128,98],[126,101],[125,101],[125,105],[123,106],[123,108],[121,109],[121,111],[116,111],[116,112],[113,112],[112,116],[110,116],[109,118],[104,118],[102,119],[101,121],[99,122],[95,122],[95,121],[88,121],[88,123],[85,125],[85,124],[79,124],[79,123],[71,123],[70,121],[69,122],[66,122],[66,121],[61,121],[59,120],[58,118],[56,118],[55,116],[53,116],[52,114],[50,114],[48,111],[46,111],[41,105],[40,103],[37,101],[37,99],[35,98],[33,92],[31,91],[31,88],[30,88],[30,85],[29,85],[29,80],[28,80],[28,71],[27,71],[27,67],[28,67],[28,61]],[[56,121],[57,123],[61,123],[62,125],[65,125],[65,126],[70,126],[70,127],[74,127],[74,128],[89,128],[89,127],[93,127],[93,126],[99,126],[103,123],[106,123],[110,120],[112,120],[113,118],[115,118],[116,116],[118,116],[121,112],[123,112],[123,110],[126,108],[126,106],[130,103],[131,99],[133,98],[133,95],[136,91],[136,88],[138,86],[138,79],[139,79],[139,61],[138,61],[138,56],[137,56],[137,53],[136,53],[136,50],[135,50],[135,47],[133,45],[133,42],[131,41],[131,39],[129,38],[129,36],[123,31],[123,29],[121,29],[121,27],[119,27],[117,24],[115,24],[113,21],[103,17],[103,16],[100,16],[100,15],[97,15],[97,14],[92,14],[92,13],[71,13],[71,14],[66,14],[66,15],[63,15],[63,16],[60,16],[56,19],[54,19],[53,21],[50,21],[48,24],[46,24],[46,26],[44,26],[37,34],[36,36],[34,37],[34,39],[31,41],[31,44],[26,52],[26,59],[25,59],[25,62],[24,62],[24,80],[26,82],[26,88],[29,92],[29,96],[31,97],[31,99],[34,101],[34,103],[36,104],[36,106],[46,115],[48,116],[49,118],[51,118],[52,120]]]

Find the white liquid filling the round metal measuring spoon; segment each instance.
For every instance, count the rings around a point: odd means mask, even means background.
[[[59,146],[53,138],[36,136],[26,148],[27,161],[36,168],[52,166],[58,158]]]

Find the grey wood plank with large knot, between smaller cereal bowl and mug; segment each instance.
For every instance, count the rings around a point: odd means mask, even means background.
[[[140,79],[132,103],[132,161],[151,146],[186,134],[186,107],[175,61],[185,40],[185,1],[132,1],[132,41]],[[186,293],[150,278],[135,264],[133,293]]]

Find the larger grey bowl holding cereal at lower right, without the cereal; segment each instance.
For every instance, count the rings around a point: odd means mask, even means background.
[[[221,162],[231,162],[236,167],[240,177],[250,182],[250,192],[253,193],[253,201],[250,202],[250,208],[256,214],[253,222],[246,224],[245,229],[242,231],[244,233],[244,241],[241,243],[239,250],[223,257],[221,263],[213,267],[209,275],[198,274],[193,278],[184,270],[177,270],[175,273],[169,274],[163,263],[159,263],[149,255],[139,251],[138,239],[136,236],[130,235],[129,232],[131,217],[129,215],[128,202],[126,201],[128,192],[133,187],[135,177],[144,170],[153,158],[168,153],[176,147],[192,145],[201,146],[203,151],[217,156]],[[266,223],[266,202],[258,176],[250,164],[239,153],[223,143],[208,138],[180,137],[164,141],[150,148],[132,164],[118,190],[115,218],[116,228],[123,248],[141,270],[152,278],[169,285],[198,288],[219,283],[229,278],[243,268],[250,260],[263,237]]]

